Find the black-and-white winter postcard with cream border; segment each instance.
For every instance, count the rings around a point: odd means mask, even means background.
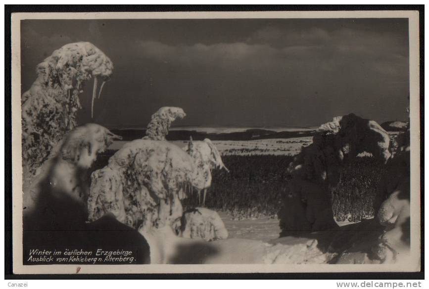
[[[384,12],[15,15],[14,270],[419,271],[418,13]]]

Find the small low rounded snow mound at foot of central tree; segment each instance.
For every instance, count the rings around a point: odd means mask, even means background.
[[[184,238],[205,241],[228,238],[228,231],[219,214],[203,207],[185,211],[176,226],[179,236]]]

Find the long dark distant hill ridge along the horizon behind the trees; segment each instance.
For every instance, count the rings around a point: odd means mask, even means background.
[[[145,136],[145,129],[112,129],[113,133],[122,136],[123,140],[130,141]],[[196,130],[170,130],[167,135],[167,140],[189,140],[192,136],[193,140],[203,140],[209,138],[211,140],[256,140],[256,139],[271,139],[271,138],[290,138],[311,136],[314,133],[312,130],[293,130],[293,131],[275,131],[269,129],[252,128],[244,131],[234,131],[226,133],[213,133]]]

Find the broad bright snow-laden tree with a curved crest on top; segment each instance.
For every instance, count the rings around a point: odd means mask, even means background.
[[[120,222],[145,232],[171,226],[182,216],[185,187],[198,187],[192,183],[195,169],[191,157],[165,136],[171,123],[185,116],[178,107],[160,108],[143,139],[125,144],[107,166],[92,174],[90,220],[113,213]]]

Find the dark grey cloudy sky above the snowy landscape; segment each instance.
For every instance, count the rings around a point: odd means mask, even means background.
[[[355,113],[406,120],[407,19],[25,20],[22,89],[53,50],[90,41],[114,75],[79,122],[145,127],[161,106],[176,125],[306,126]]]

